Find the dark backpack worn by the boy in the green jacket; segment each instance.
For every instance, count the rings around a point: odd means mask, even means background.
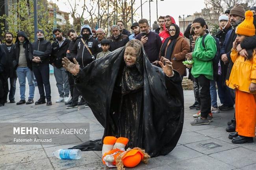
[[[205,48],[205,45],[204,45],[204,39],[205,37],[207,36],[208,34],[205,34],[202,38],[202,46]],[[218,69],[219,69],[219,60],[220,60],[220,53],[221,53],[221,45],[220,45],[220,42],[219,42],[219,38],[213,36],[213,35],[210,35],[211,37],[213,37],[216,41],[216,47],[217,47],[217,51],[215,53],[215,56],[214,58],[212,59],[212,66],[213,66],[213,79],[216,80],[217,79],[217,76],[218,76]]]

